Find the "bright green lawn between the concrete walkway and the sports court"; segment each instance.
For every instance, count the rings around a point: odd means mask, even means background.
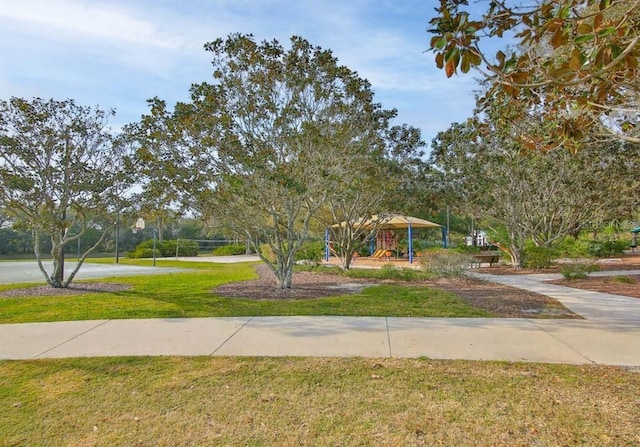
[[[97,262],[108,263],[102,259]],[[93,261],[92,261],[93,262]],[[151,265],[150,260],[123,260]],[[0,299],[0,323],[101,320],[123,318],[184,318],[232,316],[393,316],[488,317],[488,312],[464,303],[450,292],[408,284],[372,286],[361,293],[312,300],[246,300],[218,297],[213,289],[227,282],[256,277],[251,263],[216,264],[158,260],[159,267],[189,268],[187,272],[100,279],[129,284],[130,290]],[[16,285],[0,286],[1,290]]]

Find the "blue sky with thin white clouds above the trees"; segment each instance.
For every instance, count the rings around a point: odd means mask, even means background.
[[[293,35],[369,80],[393,124],[439,131],[471,116],[477,83],[447,79],[427,51],[436,0],[0,0],[0,99],[74,99],[115,109],[114,128],[146,100],[173,105],[212,79],[204,44],[231,33]]]

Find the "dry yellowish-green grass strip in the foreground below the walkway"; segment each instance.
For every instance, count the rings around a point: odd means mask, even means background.
[[[638,445],[640,374],[425,359],[0,362],[0,445]]]

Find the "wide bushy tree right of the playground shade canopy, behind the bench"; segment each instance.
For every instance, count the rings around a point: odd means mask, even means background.
[[[494,103],[484,123],[438,134],[431,162],[459,211],[506,230],[494,231],[493,241],[508,247],[512,265],[522,264],[527,241],[550,248],[594,222],[633,216],[639,145],[527,150],[520,136],[545,132],[547,123],[511,120],[510,106]]]

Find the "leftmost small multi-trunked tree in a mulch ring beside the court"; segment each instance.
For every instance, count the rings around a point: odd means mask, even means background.
[[[0,207],[34,231],[38,264],[53,287],[73,280],[133,183],[126,148],[106,127],[109,114],[72,100],[0,101]],[[90,228],[102,237],[65,278],[64,247]],[[51,239],[51,273],[41,260],[41,234]]]

